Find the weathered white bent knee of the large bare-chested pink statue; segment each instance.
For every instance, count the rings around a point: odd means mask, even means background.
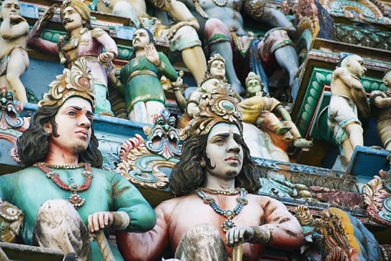
[[[225,261],[228,254],[217,228],[201,224],[193,226],[182,236],[175,258],[181,261]]]

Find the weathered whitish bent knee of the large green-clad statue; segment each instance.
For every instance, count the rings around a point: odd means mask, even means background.
[[[42,204],[34,224],[34,237],[41,247],[75,252],[81,260],[90,260],[88,229],[71,203],[52,199]]]

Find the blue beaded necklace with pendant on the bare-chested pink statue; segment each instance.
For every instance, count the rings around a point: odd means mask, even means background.
[[[240,189],[240,195],[236,199],[237,203],[233,210],[223,210],[219,205],[217,205],[214,198],[208,196],[202,189],[197,190],[197,195],[202,199],[202,201],[204,201],[205,204],[209,204],[217,214],[227,218],[226,221],[224,221],[224,223],[222,223],[220,226],[222,231],[225,233],[235,226],[235,223],[232,221],[232,219],[239,215],[244,205],[247,205],[245,189]]]

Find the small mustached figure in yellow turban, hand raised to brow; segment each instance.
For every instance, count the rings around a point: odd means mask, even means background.
[[[117,57],[116,42],[102,29],[91,29],[91,14],[88,7],[81,2],[70,0],[65,0],[60,10],[61,21],[67,34],[60,37],[57,43],[40,38],[56,8],[57,5],[52,5],[35,23],[29,34],[29,45],[48,54],[58,54],[60,63],[68,69],[75,61],[84,57],[94,76],[97,103],[95,113],[113,115],[110,102],[106,98],[107,76],[102,64]]]

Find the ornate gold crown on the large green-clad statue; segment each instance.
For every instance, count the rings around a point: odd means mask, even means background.
[[[65,68],[63,74],[57,75],[57,80],[49,84],[50,90],[38,102],[38,107],[61,106],[69,97],[80,96],[90,101],[95,111],[95,87],[92,79],[86,59],[79,59],[70,70]]]

